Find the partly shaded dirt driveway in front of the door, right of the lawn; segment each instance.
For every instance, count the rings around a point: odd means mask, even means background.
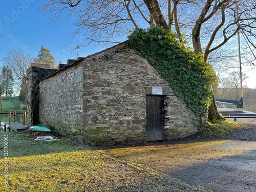
[[[239,139],[248,135],[250,139]],[[256,191],[256,128],[230,137],[115,148],[113,156],[212,191]],[[254,137],[251,137],[254,134]]]

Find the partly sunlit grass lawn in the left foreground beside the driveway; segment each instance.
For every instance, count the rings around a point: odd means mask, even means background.
[[[5,139],[8,156],[4,153]],[[28,134],[0,132],[0,141],[0,191],[201,190],[160,175],[145,164],[119,160],[104,150],[79,146],[67,138],[38,141]]]

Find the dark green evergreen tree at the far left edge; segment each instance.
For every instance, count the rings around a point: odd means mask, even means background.
[[[13,94],[14,78],[9,67],[3,67],[2,78],[0,82],[0,93],[3,96],[11,96]]]

